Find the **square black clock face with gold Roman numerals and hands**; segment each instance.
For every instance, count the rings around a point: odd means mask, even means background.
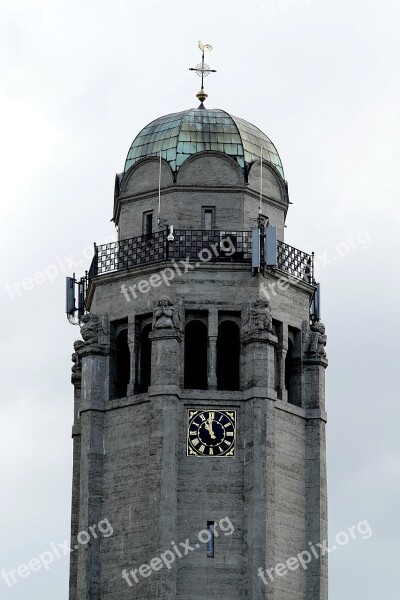
[[[236,411],[188,411],[188,456],[235,456]]]

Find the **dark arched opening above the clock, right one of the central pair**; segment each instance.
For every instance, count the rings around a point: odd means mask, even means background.
[[[234,321],[222,321],[218,327],[217,389],[240,389],[240,331]]]

